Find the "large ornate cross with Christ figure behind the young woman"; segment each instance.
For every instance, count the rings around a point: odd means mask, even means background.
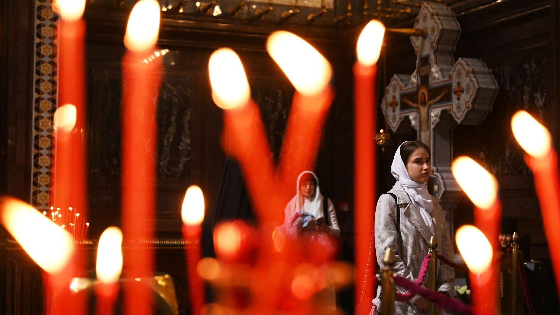
[[[433,195],[442,199],[444,210],[451,210],[461,195],[451,174],[453,129],[457,124],[480,124],[492,109],[498,85],[480,59],[454,62],[461,28],[446,4],[424,2],[407,32],[417,55],[416,70],[391,78],[381,109],[393,132],[410,119],[418,140],[431,151]]]

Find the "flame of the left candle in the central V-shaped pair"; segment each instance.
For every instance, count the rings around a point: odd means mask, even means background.
[[[249,82],[239,56],[229,48],[216,50],[208,62],[212,99],[222,109],[232,109],[248,103]]]

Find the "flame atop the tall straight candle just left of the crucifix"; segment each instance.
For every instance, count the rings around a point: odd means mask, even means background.
[[[358,55],[358,62],[363,66],[371,67],[379,60],[381,53],[381,44],[383,43],[383,36],[385,35],[385,26],[377,20],[371,20],[366,27],[363,28],[358,44],[356,45],[356,52]]]

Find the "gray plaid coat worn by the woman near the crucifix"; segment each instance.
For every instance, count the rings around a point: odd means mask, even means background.
[[[430,229],[424,223],[419,209],[410,201],[410,197],[399,182],[395,183],[389,192],[394,193],[398,203],[399,211],[393,197],[390,194],[382,194],[377,201],[375,210],[375,251],[377,263],[380,267],[384,266],[383,255],[385,249],[390,247],[396,251],[396,263],[394,269],[396,274],[407,277],[411,281],[416,280],[422,260],[428,253],[428,242],[430,241]],[[445,220],[446,211],[441,209],[440,200],[432,196],[433,210],[432,217],[435,222],[436,240],[439,253],[449,260],[453,260],[453,246],[449,237],[449,229]],[[398,240],[396,234],[396,215],[400,215],[400,235]],[[437,261],[437,283],[436,290],[446,293],[450,297],[454,296],[455,270],[445,263]],[[423,286],[428,283],[428,277],[424,278]],[[405,293],[402,288],[397,287],[399,292]],[[377,297],[374,304],[380,307],[379,293],[381,287],[377,288]],[[395,302],[395,314],[418,314],[419,311],[414,305],[420,298],[415,295],[409,302]],[[380,309],[378,308],[378,311]]]

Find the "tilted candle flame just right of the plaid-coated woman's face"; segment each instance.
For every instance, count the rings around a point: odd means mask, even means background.
[[[468,156],[460,156],[451,172],[466,195],[480,209],[489,209],[496,201],[498,183],[492,174]]]

